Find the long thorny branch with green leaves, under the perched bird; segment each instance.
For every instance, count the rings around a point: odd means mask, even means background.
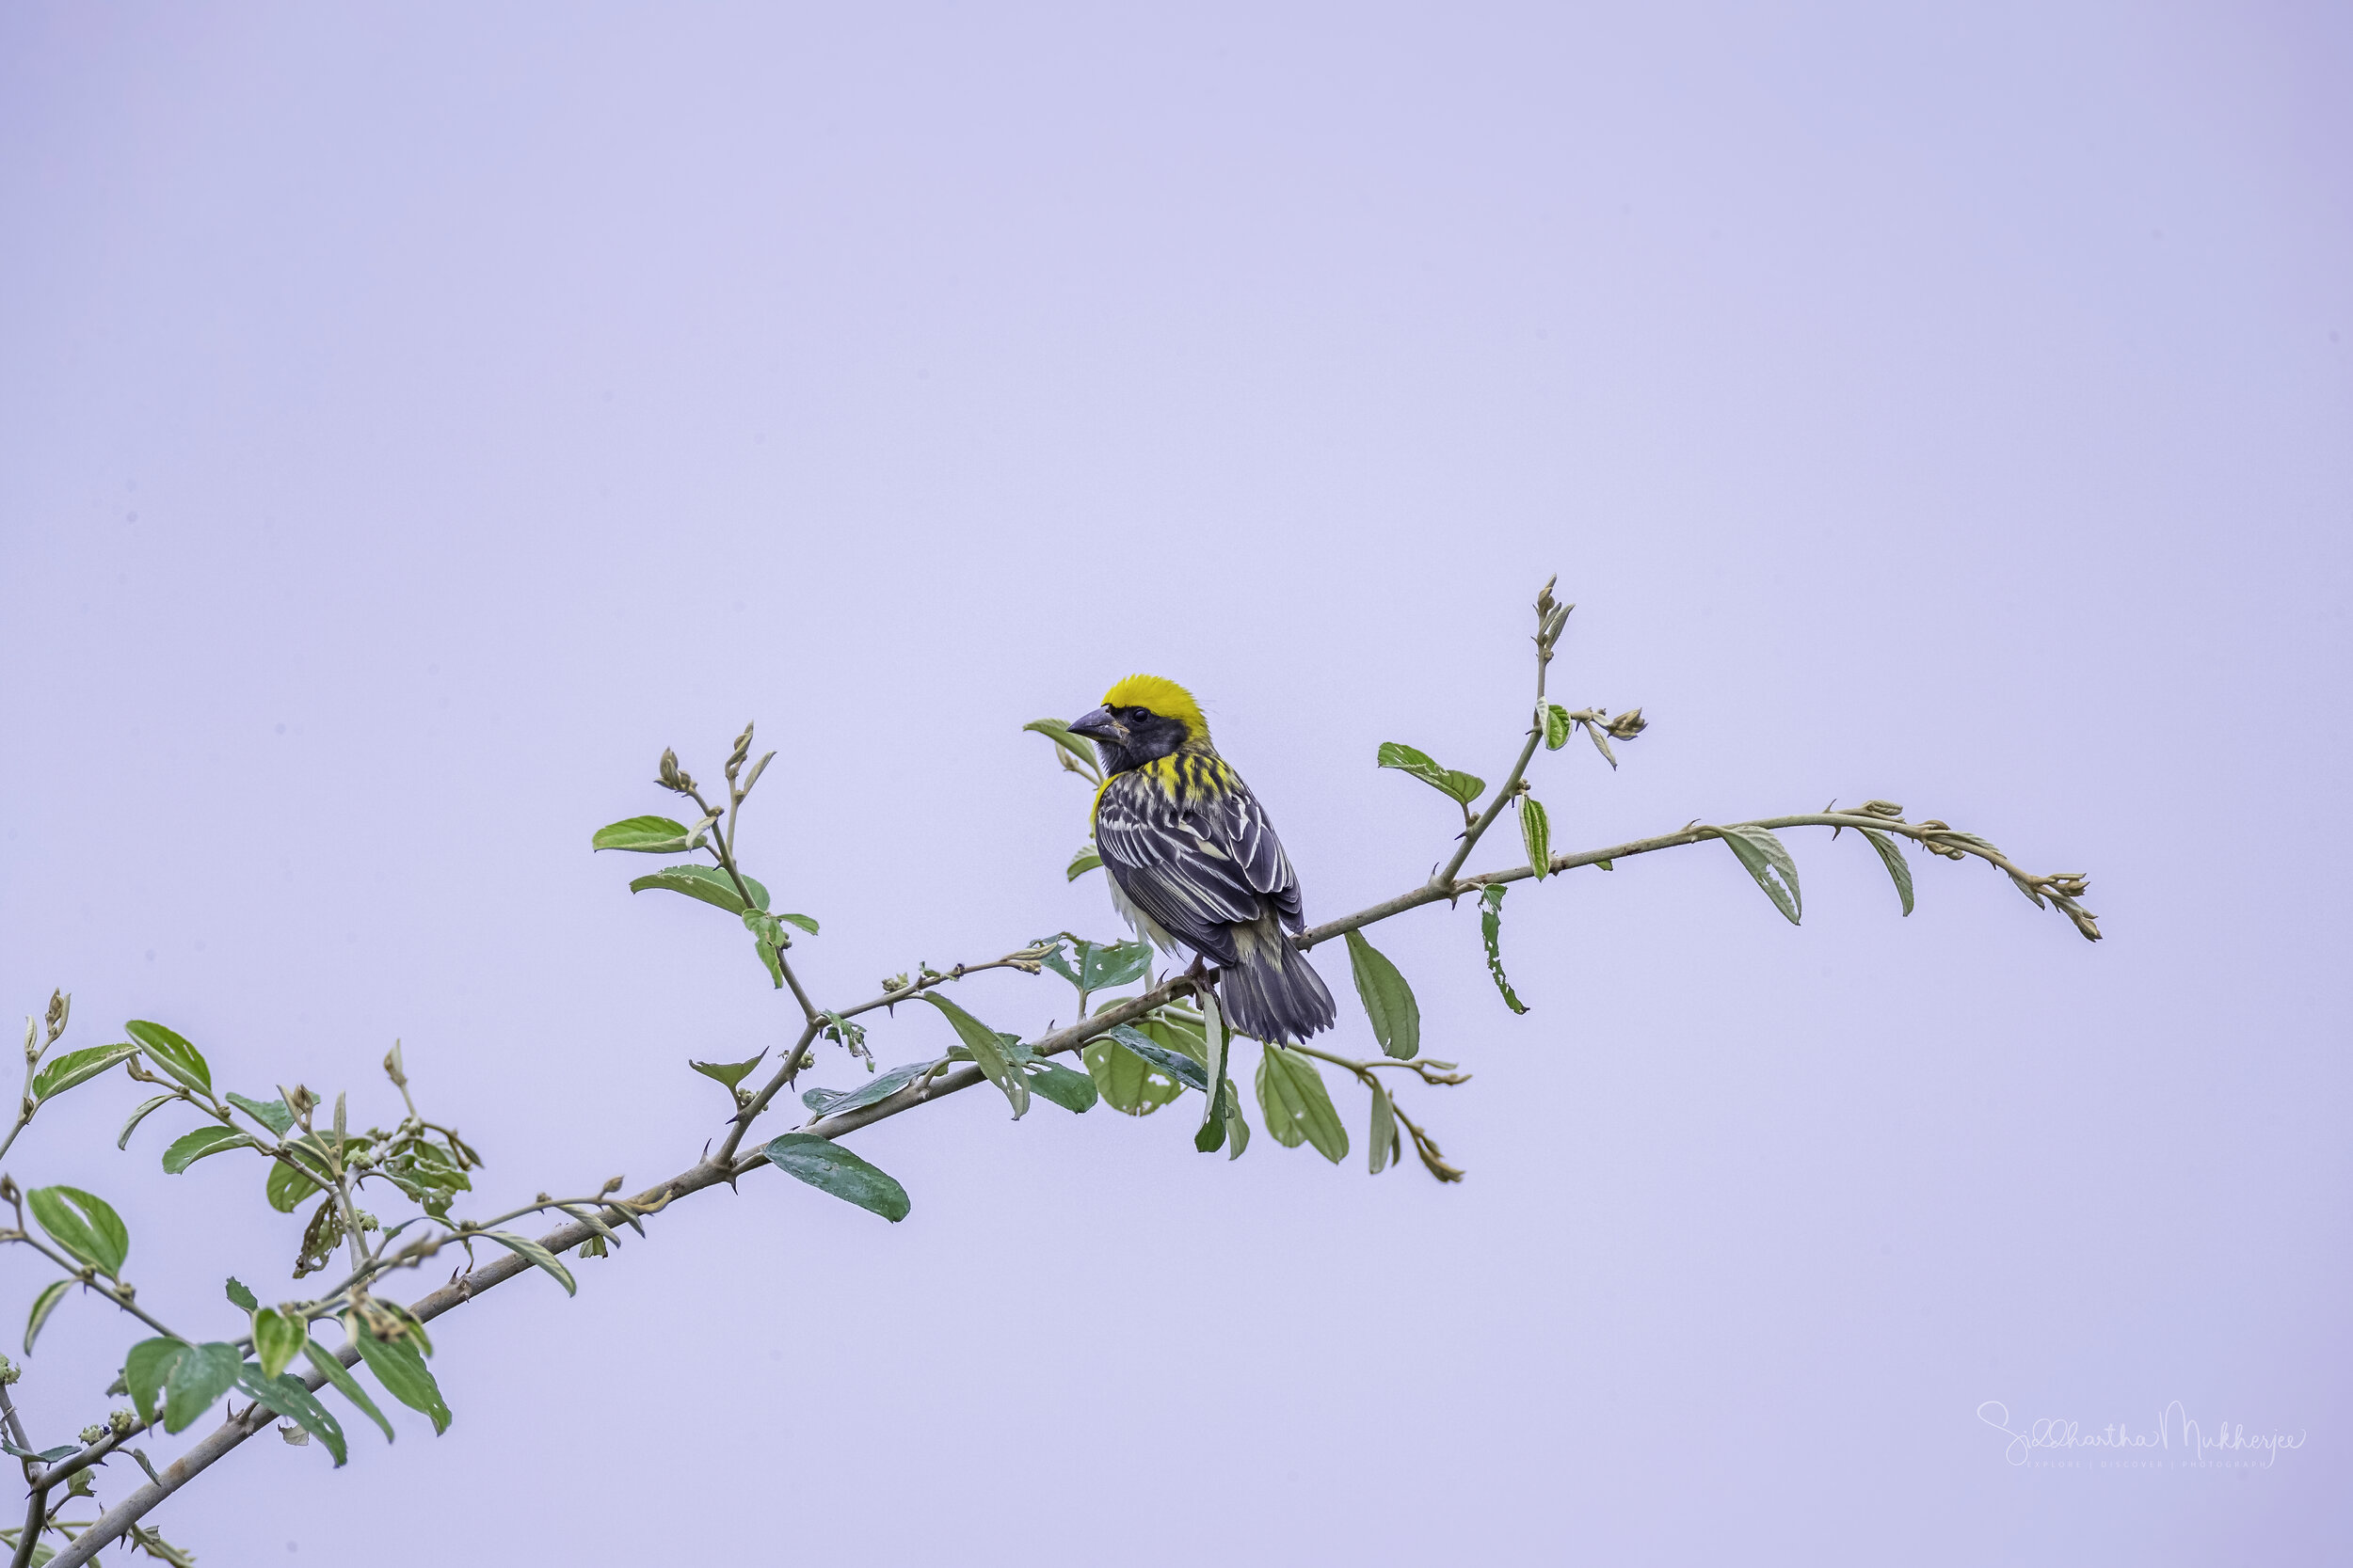
[[[1014,1119],[1021,1119],[1035,1100],[1047,1100],[1061,1112],[1111,1105],[1127,1117],[1151,1117],[1186,1093],[1198,1093],[1202,1114],[1193,1124],[1193,1145],[1205,1152],[1224,1150],[1228,1159],[1238,1159],[1252,1143],[1245,1100],[1254,1098],[1266,1131],[1287,1147],[1311,1145],[1339,1164],[1348,1159],[1353,1124],[1362,1128],[1365,1166],[1372,1173],[1379,1175],[1398,1164],[1412,1145],[1431,1175],[1442,1182],[1461,1180],[1461,1168],[1447,1161],[1435,1138],[1407,1112],[1398,1088],[1457,1086],[1468,1074],[1454,1063],[1421,1053],[1421,1009],[1414,990],[1365,936],[1372,926],[1409,910],[1426,905],[1452,910],[1468,898],[1478,917],[1478,945],[1473,947],[1466,936],[1464,961],[1485,961],[1501,1006],[1525,1013],[1527,1006],[1513,992],[1501,954],[1504,898],[1515,882],[1541,882],[1586,865],[1612,870],[1638,856],[1715,839],[1755,877],[1772,905],[1798,922],[1805,912],[1798,865],[1781,832],[1828,827],[1838,839],[1852,827],[1887,867],[1906,914],[1913,907],[1913,875],[1901,842],[1911,839],[1948,860],[1986,860],[2038,907],[2057,910],[2082,936],[2099,938],[2094,917],[2080,903],[2085,893],[2080,875],[2028,872],[1977,835],[1939,820],[1906,820],[1901,806],[1880,799],[1845,811],[1734,823],[1694,820],[1649,839],[1581,851],[1555,849],[1551,818],[1529,778],[1539,752],[1558,752],[1584,731],[1617,766],[1612,743],[1624,745],[1645,729],[1638,708],[1612,717],[1598,705],[1569,710],[1546,698],[1546,672],[1567,616],[1569,607],[1558,604],[1546,585],[1537,599],[1534,703],[1527,733],[1515,741],[1515,757],[1492,792],[1482,778],[1447,769],[1409,745],[1379,748],[1379,766],[1409,773],[1452,802],[1454,811],[1442,835],[1454,842],[1433,875],[1412,882],[1395,898],[1308,926],[1294,938],[1299,950],[1334,938],[1346,945],[1348,973],[1362,1004],[1362,1032],[1372,1051],[1348,1056],[1304,1041],[1259,1044],[1249,1074],[1252,1095],[1240,1091],[1242,1072],[1235,1063],[1235,1048],[1247,1041],[1226,1027],[1217,971],[1195,964],[1191,971],[1155,978],[1153,950],[1141,940],[1094,940],[1056,931],[986,961],[948,969],[915,964],[882,980],[871,994],[819,1006],[795,971],[795,940],[816,938],[819,922],[776,910],[769,889],[739,858],[744,802],[774,759],[774,752],[751,759],[751,729],[736,738],[727,757],[720,792],[706,795],[680,769],[675,755],[661,755],[656,785],[692,804],[692,820],[633,816],[593,837],[600,851],[659,858],[661,865],[628,886],[678,893],[720,910],[734,931],[732,940],[751,938],[758,971],[746,964],[746,980],[765,978],[772,990],[788,997],[781,1048],[741,1063],[687,1063],[713,1079],[725,1095],[715,1107],[718,1131],[680,1128],[680,1143],[701,1145],[704,1152],[678,1175],[631,1197],[621,1197],[621,1178],[612,1178],[579,1197],[539,1192],[489,1218],[468,1218],[482,1157],[452,1124],[433,1121],[419,1110],[400,1046],[384,1058],[386,1084],[398,1093],[398,1105],[391,1110],[398,1114],[362,1126],[344,1091],[329,1100],[301,1084],[275,1086],[261,1063],[240,1063],[233,1077],[256,1088],[271,1086],[268,1098],[221,1088],[205,1053],[158,1023],[134,1020],[115,1044],[59,1051],[71,1006],[64,994],[52,997],[42,1018],[26,1020],[24,1093],[14,1126],[0,1138],[0,1157],[14,1150],[19,1135],[59,1095],[96,1081],[129,1079],[153,1093],[127,1112],[118,1147],[127,1157],[146,1159],[132,1145],[153,1119],[155,1126],[169,1124],[172,1131],[160,1150],[162,1178],[212,1157],[252,1161],[254,1197],[268,1211],[287,1215],[289,1281],[332,1284],[264,1305],[254,1291],[228,1279],[207,1321],[167,1324],[127,1274],[132,1225],[122,1211],[78,1187],[19,1190],[14,1180],[0,1175],[0,1204],[7,1206],[7,1215],[0,1215],[0,1244],[12,1244],[35,1274],[45,1274],[31,1281],[28,1291],[26,1356],[31,1359],[52,1314],[82,1298],[96,1298],[125,1326],[120,1375],[106,1392],[108,1399],[89,1406],[87,1425],[71,1441],[61,1441],[56,1432],[33,1432],[35,1422],[14,1399],[24,1387],[19,1382],[24,1368],[0,1361],[0,1429],[5,1429],[0,1441],[21,1465],[26,1483],[21,1523],[0,1530],[0,1542],[9,1547],[9,1566],[45,1561],[73,1568],[113,1542],[158,1561],[188,1561],[186,1552],[146,1523],[146,1516],[245,1439],[273,1425],[289,1443],[315,1443],[334,1465],[348,1458],[344,1422],[353,1413],[379,1427],[386,1441],[393,1436],[388,1403],[424,1415],[435,1432],[445,1429],[449,1406],[431,1366],[435,1352],[433,1333],[426,1328],[431,1321],[529,1272],[546,1274],[569,1295],[576,1291],[576,1279],[565,1262],[567,1255],[612,1255],[624,1241],[642,1237],[647,1220],[668,1204],[696,1192],[732,1185],[772,1166],[885,1220],[904,1220],[911,1211],[908,1192],[840,1140],[861,1126],[913,1112],[976,1084],[991,1084],[1002,1093]],[[1040,719],[1028,729],[1054,743],[1066,771],[1080,773],[1096,788],[1104,783],[1101,757],[1087,738],[1071,733],[1071,726],[1056,719]],[[1511,865],[1464,875],[1464,865],[1506,811],[1518,820],[1522,853]],[[1421,856],[1400,849],[1398,860],[1412,865]],[[1099,865],[1101,856],[1089,842],[1071,858],[1066,875],[1078,879]],[[1035,978],[1052,973],[1078,992],[1078,1023],[1024,1037],[979,1018],[979,1013],[1014,1011],[1021,997],[993,992],[981,1001],[974,992],[972,1006],[965,1006],[946,994],[948,987],[962,994],[965,980],[988,971]],[[1061,994],[1059,987],[1054,994]],[[913,1006],[899,1011],[901,1004]],[[1059,1013],[1064,1006],[1031,1004],[1028,1011]],[[873,1046],[882,1037],[908,1041],[915,1060],[878,1070]],[[800,1088],[798,1107],[807,1114],[798,1126],[779,1131],[776,1100],[795,1091],[819,1048],[838,1048],[845,1065],[854,1063],[864,1072],[854,1072],[847,1088]],[[1075,1065],[1059,1058],[1075,1058]],[[1355,1117],[1339,1112],[1325,1067],[1365,1093]],[[706,1135],[711,1143],[704,1143]],[[148,1143],[139,1147],[151,1150],[153,1138],[148,1133]],[[136,1192],[136,1201],[127,1204],[134,1218],[169,1204],[169,1182],[158,1180],[153,1168],[141,1178],[125,1178],[125,1185]],[[555,1225],[536,1237],[511,1229],[532,1215]],[[449,1284],[407,1302],[388,1295],[395,1276],[452,1248],[464,1253],[464,1262]],[[200,1293],[172,1295],[198,1300]],[[174,1316],[179,1312],[174,1307]],[[158,1462],[146,1453],[148,1443],[184,1434],[200,1420],[216,1425],[179,1455]],[[71,1425],[71,1418],[59,1425]]]

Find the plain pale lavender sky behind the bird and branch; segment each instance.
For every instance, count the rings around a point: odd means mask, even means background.
[[[1202,691],[1329,917],[1445,851],[1377,743],[1506,766],[1548,571],[1560,696],[1654,719],[1617,773],[1541,762],[1560,844],[1882,795],[2092,872],[2111,940],[1922,858],[1899,919],[1864,844],[1793,832],[1805,929],[1715,846],[1513,893],[1511,1018],[1471,910],[1419,912],[1379,940],[1478,1074],[1409,1095],[1461,1187],[962,1095],[856,1140],[906,1225],[781,1175],[699,1199],[576,1302],[445,1319],[447,1436],[254,1443],[165,1530],[353,1566],[2353,1547],[2346,14],[842,16],[0,16],[9,1006],[66,985],[78,1044],[160,1018],[376,1114],[400,1037],[485,1208],[652,1180],[718,1126],[685,1058],[786,1023],[722,917],[586,853],[664,806],[664,745],[781,750],[746,846],[826,922],[828,999],[1113,931],[1019,724],[1134,668]],[[144,1295],[233,1333],[219,1279],[292,1295],[294,1220],[233,1159],[160,1175],[160,1131],[118,1154],[132,1091],[9,1171],[108,1194]],[[59,1309],[42,1441],[129,1338]],[[1981,1401],[2306,1446],[2021,1469]]]

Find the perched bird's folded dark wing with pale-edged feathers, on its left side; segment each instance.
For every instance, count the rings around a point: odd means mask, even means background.
[[[1224,929],[1259,919],[1264,900],[1226,846],[1224,813],[1209,806],[1118,773],[1094,804],[1094,851],[1120,891],[1169,936],[1231,964],[1233,938]]]

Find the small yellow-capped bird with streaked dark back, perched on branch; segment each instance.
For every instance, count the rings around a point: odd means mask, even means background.
[[[1120,917],[1162,952],[1191,947],[1195,976],[1217,964],[1235,1034],[1299,1044],[1329,1030],[1332,992],[1297,943],[1299,872],[1266,806],[1217,755],[1193,693],[1129,675],[1071,733],[1104,759],[1094,853]]]

